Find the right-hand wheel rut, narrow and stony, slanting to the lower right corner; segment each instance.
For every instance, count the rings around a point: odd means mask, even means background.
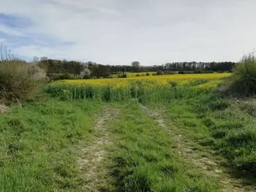
[[[148,117],[154,118],[154,120],[167,131],[168,134],[172,137],[176,143],[176,149],[178,154],[184,159],[184,163],[192,164],[196,166],[203,174],[206,174],[210,177],[217,177],[221,184],[222,192],[245,192],[248,191],[244,188],[239,180],[231,177],[229,174],[222,172],[217,159],[208,158],[206,155],[202,155],[200,151],[195,150],[195,147],[192,146],[192,141],[185,142],[188,140],[184,135],[180,134],[176,126],[168,127],[165,123],[165,120],[157,112],[154,112],[148,107],[140,104],[141,110],[148,115]],[[190,144],[189,144],[190,143]],[[207,155],[208,156],[208,155]],[[210,156],[210,155],[209,155]],[[249,191],[256,191],[255,187],[252,187]]]

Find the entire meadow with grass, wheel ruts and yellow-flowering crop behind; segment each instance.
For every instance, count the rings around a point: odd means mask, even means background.
[[[4,191],[255,191],[255,107],[229,73],[59,80],[1,115]]]

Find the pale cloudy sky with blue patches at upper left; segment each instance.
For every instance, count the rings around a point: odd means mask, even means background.
[[[256,47],[255,0],[0,0],[20,58],[99,64],[238,61]]]

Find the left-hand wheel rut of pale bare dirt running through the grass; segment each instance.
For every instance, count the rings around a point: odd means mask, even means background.
[[[110,121],[118,117],[118,110],[104,106],[94,125],[95,138],[91,145],[80,149],[78,164],[83,184],[80,191],[96,192],[104,190],[108,185],[108,157],[107,147],[112,144],[108,128]]]

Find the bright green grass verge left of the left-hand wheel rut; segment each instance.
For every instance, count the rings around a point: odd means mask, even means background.
[[[76,191],[75,146],[86,146],[97,101],[46,101],[12,107],[0,116],[3,191]]]

